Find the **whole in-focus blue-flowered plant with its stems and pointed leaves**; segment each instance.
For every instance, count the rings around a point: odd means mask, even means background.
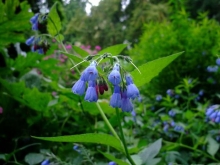
[[[56,43],[59,44],[61,48],[58,52],[68,57],[72,64],[70,70],[74,69],[79,77],[72,85],[71,90],[73,95],[79,95],[79,100],[83,97],[90,105],[95,104],[112,134],[88,133],[73,136],[35,138],[57,142],[89,142],[108,145],[115,148],[125,156],[124,158],[117,159],[112,155],[106,156],[106,153],[103,153],[104,156],[112,161],[111,164],[128,164],[127,162],[129,162],[130,164],[135,165],[136,162],[131,157],[125,141],[126,138],[123,133],[121,121],[122,115],[136,116],[135,105],[133,102],[135,100],[141,100],[139,87],[148,83],[153,77],[158,75],[164,67],[182,54],[182,52],[157,59],[139,67],[133,63],[130,57],[120,54],[127,46],[125,44],[108,47],[95,55],[90,55],[83,49],[73,46],[74,51],[79,55],[71,54],[66,50],[63,44],[64,37],[60,34],[62,19],[60,17],[59,3],[55,3],[49,13],[35,14],[31,18],[31,23],[34,31],[39,30],[41,27],[39,25],[45,25],[46,23],[47,33],[45,34],[40,31],[40,33],[27,39],[26,44],[37,46],[37,48],[34,48],[41,54],[45,53],[45,48],[48,48],[50,44],[52,44],[49,39],[56,40]],[[133,66],[134,70],[132,72],[127,70],[126,66],[128,65]],[[82,67],[85,68],[80,71],[80,68]],[[109,108],[112,107],[115,109],[120,136],[110,124],[101,106],[102,98],[105,97],[105,92],[107,91],[111,93],[110,97],[106,95],[106,99],[108,100]],[[103,96],[100,97],[100,95]],[[82,102],[80,102],[80,104],[82,104]],[[159,152],[161,148],[161,140],[157,141],[155,145],[157,148],[156,150],[155,146],[150,149],[154,150],[153,157],[150,157],[150,160],[153,160],[154,156],[156,156]],[[147,162],[144,155],[145,152],[149,152],[149,150],[146,149],[144,151],[138,151],[135,154],[136,157],[139,157],[142,160],[142,164]]]

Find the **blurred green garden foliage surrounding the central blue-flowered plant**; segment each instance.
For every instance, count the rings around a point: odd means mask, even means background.
[[[44,156],[38,157],[35,164],[39,164],[48,157],[45,151],[40,151],[45,148],[50,150],[50,158],[52,153],[57,155],[53,159],[60,164],[64,161],[85,164],[85,155],[70,149],[73,144],[36,141],[30,135],[109,133],[97,108],[72,94],[70,88],[79,75],[71,72],[70,61],[57,53],[59,45],[52,46],[51,42],[45,55],[30,52],[25,45],[25,40],[34,34],[30,18],[42,7],[49,10],[56,1],[0,1],[0,107],[3,109],[0,164],[31,164],[25,155],[40,152]],[[219,136],[219,126],[204,123],[206,108],[219,103],[220,72],[218,68],[216,71],[208,69],[216,66],[220,52],[219,0],[102,0],[89,14],[85,10],[89,0],[59,2],[63,6],[60,10],[62,34],[70,53],[76,53],[72,45],[96,54],[101,48],[126,43],[128,46],[123,53],[140,66],[184,51],[179,59],[141,88],[143,103],[135,103],[136,122],[130,114],[125,115],[124,131],[133,152],[163,137],[170,143],[165,142],[159,154],[161,164],[220,161],[216,154],[220,138],[214,140]],[[166,94],[167,89],[172,89],[180,99]],[[200,90],[204,95],[198,94]],[[156,94],[163,97],[161,102],[155,100]],[[106,96],[109,97],[110,92]],[[113,109],[105,97],[101,98],[101,106],[112,125],[117,127]],[[184,134],[173,133],[173,130],[172,134],[164,132],[164,122],[172,120],[167,114],[172,108],[177,113],[176,122],[186,130]],[[179,145],[180,142],[188,144],[188,148]],[[21,149],[28,145],[33,146]],[[106,148],[90,144],[86,147],[88,151],[93,150],[86,155],[87,159],[107,163],[98,152]]]

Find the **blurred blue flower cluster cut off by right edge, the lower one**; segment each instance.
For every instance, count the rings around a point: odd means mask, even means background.
[[[212,105],[207,108],[206,110],[206,117],[208,120],[211,120],[215,123],[220,123],[220,105]]]

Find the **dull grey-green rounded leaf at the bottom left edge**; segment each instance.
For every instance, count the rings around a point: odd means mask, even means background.
[[[44,160],[44,155],[39,153],[29,153],[25,156],[24,160],[29,165],[35,165]]]

